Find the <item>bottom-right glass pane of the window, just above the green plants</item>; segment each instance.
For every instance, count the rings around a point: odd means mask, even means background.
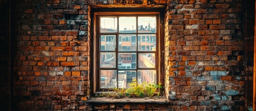
[[[138,70],[138,84],[142,82],[157,83],[156,70]]]

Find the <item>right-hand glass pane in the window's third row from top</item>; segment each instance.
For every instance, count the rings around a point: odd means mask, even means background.
[[[154,53],[138,54],[138,68],[155,68],[155,54]]]

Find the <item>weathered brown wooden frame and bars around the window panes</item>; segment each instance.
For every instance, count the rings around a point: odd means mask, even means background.
[[[156,34],[156,51],[155,51],[155,54],[156,54],[156,67],[154,68],[157,72],[157,83],[161,82],[162,85],[164,85],[164,74],[163,74],[163,64],[164,64],[164,60],[161,59],[163,58],[164,56],[164,53],[163,53],[163,45],[161,44],[164,44],[164,43],[160,43],[160,41],[164,42],[164,39],[163,39],[163,26],[161,27],[160,25],[163,25],[163,24],[160,24],[160,12],[94,12],[93,13],[93,77],[92,77],[92,87],[93,87],[93,94],[95,93],[103,93],[105,91],[111,91],[111,90],[101,90],[100,89],[100,75],[99,75],[99,59],[98,59],[98,56],[99,56],[99,48],[100,48],[100,33],[99,33],[99,25],[100,25],[100,21],[99,21],[99,16],[127,16],[127,15],[131,15],[131,16],[136,16],[137,18],[137,23],[138,24],[138,17],[137,16],[146,16],[146,15],[154,15],[157,17],[157,32],[156,33],[151,33],[151,34]],[[116,34],[117,33],[117,34]],[[115,32],[115,35],[116,36],[116,48],[118,48],[118,31]],[[104,33],[106,34],[106,33]],[[113,33],[107,33],[107,34],[110,34],[112,35]],[[138,26],[136,27],[136,32],[135,33],[131,33],[131,34],[136,34],[138,36],[138,34],[142,34],[142,33],[138,33]],[[143,33],[143,34],[147,34],[147,33]],[[137,45],[137,48],[138,48],[138,37],[136,37],[136,45]],[[116,69],[118,69],[118,49],[115,50],[116,52]],[[135,70],[137,71],[136,75],[138,77],[138,70],[139,69],[144,69],[144,68],[138,68],[138,49],[136,49],[134,52],[136,52],[137,56],[136,56],[136,63],[137,63],[137,68],[136,69],[131,69],[131,70]],[[141,51],[142,53],[154,53],[154,52],[150,52],[150,51]],[[139,53],[141,53],[139,52]],[[146,68],[146,69],[153,69],[153,68]],[[117,75],[118,75],[118,70],[117,70]],[[136,77],[136,78],[137,78]],[[118,78],[118,77],[117,77]],[[137,78],[138,80],[138,78]],[[118,82],[118,80],[117,80]],[[164,90],[163,90],[164,91]]]

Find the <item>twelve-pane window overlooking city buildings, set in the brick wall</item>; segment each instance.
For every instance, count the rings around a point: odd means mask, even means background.
[[[159,12],[97,12],[95,20],[94,92],[159,83]]]

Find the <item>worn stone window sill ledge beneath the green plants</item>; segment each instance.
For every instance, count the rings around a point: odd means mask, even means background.
[[[90,98],[85,102],[88,104],[169,104],[166,98]]]

